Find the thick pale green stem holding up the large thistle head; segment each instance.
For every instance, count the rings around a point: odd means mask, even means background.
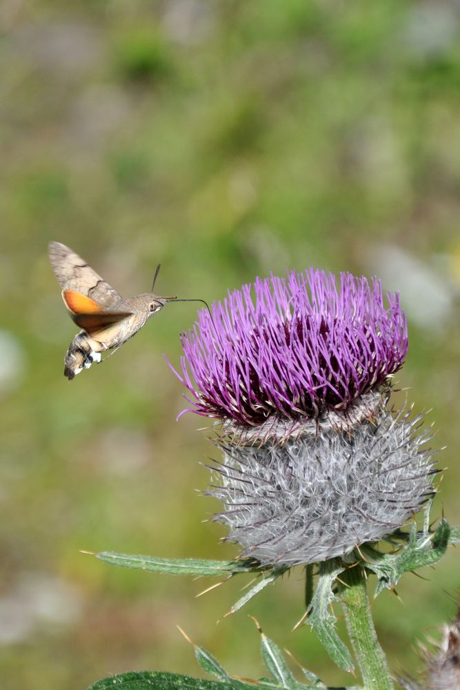
[[[366,690],[394,690],[386,656],[375,633],[370,614],[366,578],[361,564],[348,568],[340,579],[341,602],[348,635]]]

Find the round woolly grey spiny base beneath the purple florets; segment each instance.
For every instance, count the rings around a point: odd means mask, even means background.
[[[263,564],[314,563],[398,529],[432,495],[420,418],[384,404],[346,431],[306,423],[283,442],[218,444],[214,516],[243,556]],[[367,414],[369,412],[367,411]]]

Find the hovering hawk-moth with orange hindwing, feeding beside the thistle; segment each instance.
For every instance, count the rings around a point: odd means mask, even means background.
[[[101,353],[123,345],[166,302],[176,299],[154,293],[121,297],[65,244],[50,242],[49,255],[64,304],[81,328],[64,357],[64,375],[69,380],[93,362],[100,362]]]

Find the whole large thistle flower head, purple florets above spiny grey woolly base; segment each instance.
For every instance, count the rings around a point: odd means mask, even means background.
[[[388,408],[407,351],[399,295],[349,273],[257,278],[181,338],[188,411],[220,420],[214,516],[286,566],[398,529],[432,494],[420,418]]]

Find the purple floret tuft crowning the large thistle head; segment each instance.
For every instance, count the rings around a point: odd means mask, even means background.
[[[346,410],[398,371],[408,347],[398,293],[322,270],[257,278],[199,312],[181,337],[181,382],[192,411],[258,425]]]

